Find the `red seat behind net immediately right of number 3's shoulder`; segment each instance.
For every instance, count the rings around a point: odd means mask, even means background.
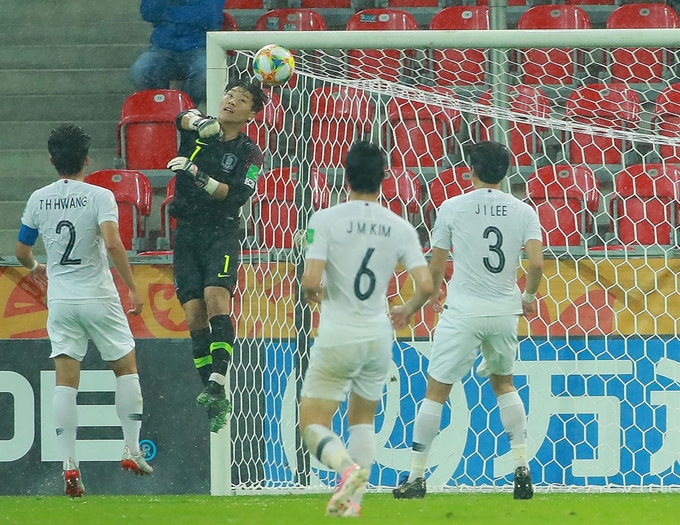
[[[585,246],[600,205],[599,182],[590,168],[544,166],[529,176],[527,199],[538,212],[546,246]]]

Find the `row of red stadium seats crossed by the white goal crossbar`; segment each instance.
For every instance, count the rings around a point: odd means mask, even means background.
[[[234,29],[233,17],[225,29]],[[429,25],[435,30],[486,30],[490,28],[486,6],[453,6],[434,15]],[[677,28],[680,19],[664,4],[626,4],[616,8],[607,21],[610,29]],[[588,14],[576,5],[537,5],[519,19],[519,29],[590,29]],[[321,31],[326,23],[321,14],[309,9],[274,9],[258,20],[258,31]],[[418,24],[407,11],[365,9],[352,16],[348,30],[416,30]],[[514,62],[521,65],[524,84],[571,84],[583,59],[573,49],[531,49],[521,51]],[[669,67],[670,57],[662,49],[614,49],[606,56],[611,77],[620,82],[658,83]],[[349,63],[367,76],[396,80],[404,73],[407,53],[396,50],[350,52]],[[434,79],[440,85],[482,84],[487,57],[483,50],[435,50],[432,53]],[[379,67],[374,67],[374,66]],[[359,73],[361,74],[361,73]]]

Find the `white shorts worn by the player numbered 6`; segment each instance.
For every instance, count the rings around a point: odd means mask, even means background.
[[[336,346],[315,344],[302,384],[302,396],[344,401],[354,392],[378,401],[385,387],[392,337]]]

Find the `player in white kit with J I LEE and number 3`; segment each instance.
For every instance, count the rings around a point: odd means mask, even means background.
[[[413,429],[411,472],[394,489],[397,499],[425,496],[425,466],[439,432],[442,409],[454,383],[467,374],[481,350],[477,369],[489,376],[501,422],[515,460],[514,497],[533,496],[527,463],[526,412],[513,384],[519,315],[535,311],[543,275],[541,226],[527,204],[500,190],[510,165],[510,152],[497,142],[480,142],[469,153],[475,190],[445,201],[432,233],[430,271],[439,290],[449,252],[453,277],[446,304],[433,300],[441,316],[434,333],[425,400]],[[522,249],[528,259],[521,295],[517,269]]]

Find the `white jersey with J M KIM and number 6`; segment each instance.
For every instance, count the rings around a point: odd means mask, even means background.
[[[375,202],[349,201],[312,215],[307,259],[326,261],[320,344],[391,337],[387,287],[398,263],[426,266],[407,221]]]

